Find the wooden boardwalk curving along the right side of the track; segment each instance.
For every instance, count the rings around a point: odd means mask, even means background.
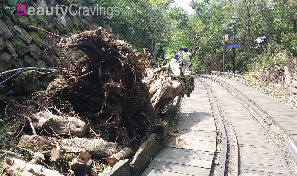
[[[276,125],[292,138],[297,145],[297,111],[293,110],[276,99],[264,94],[256,89],[247,86],[236,80],[227,78],[209,76],[222,80],[233,86],[240,93],[244,94],[247,99],[254,103],[260,110],[266,113]]]

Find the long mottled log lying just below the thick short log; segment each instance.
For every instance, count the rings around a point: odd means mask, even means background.
[[[34,138],[35,137],[35,138]],[[57,139],[50,138],[47,136],[33,136],[33,135],[23,135],[20,138],[19,145],[23,146],[31,141],[43,141],[45,143],[58,144],[66,147],[74,147],[74,148],[83,148],[86,152],[88,152],[92,158],[108,158],[108,156],[114,154],[118,149],[118,144],[112,142],[106,142],[103,139],[93,139],[93,138],[73,138],[72,139]],[[42,142],[41,144],[42,145]]]

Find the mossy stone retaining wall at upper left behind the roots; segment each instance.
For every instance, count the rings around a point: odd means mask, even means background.
[[[29,7],[51,7],[56,6],[53,0],[18,0],[18,4]],[[78,12],[79,7],[87,7],[83,2],[75,3],[78,8],[72,9],[72,14]],[[2,9],[2,10],[1,10]],[[54,65],[54,60],[59,60],[63,65],[70,60],[78,60],[81,56],[71,50],[60,49],[56,46],[57,41],[49,39],[44,32],[30,29],[29,26],[45,29],[57,35],[66,37],[79,33],[86,29],[95,29],[99,25],[91,15],[72,16],[67,10],[65,18],[53,15],[33,15],[28,13],[24,16],[15,15],[16,10],[11,13],[10,9],[0,9],[0,72],[22,67],[48,68]]]

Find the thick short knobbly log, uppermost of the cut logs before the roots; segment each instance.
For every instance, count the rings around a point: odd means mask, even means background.
[[[56,116],[50,112],[40,111],[32,115],[34,122],[34,127],[40,128],[41,130],[45,129],[50,133],[60,134],[60,133],[69,133],[70,124],[70,133],[71,135],[77,135],[78,137],[83,137],[88,130],[88,124],[77,119],[75,117],[63,117]]]

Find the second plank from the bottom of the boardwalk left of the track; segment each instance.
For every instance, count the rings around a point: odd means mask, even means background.
[[[209,173],[210,173],[210,169],[206,169],[206,168],[187,166],[187,165],[182,165],[177,163],[168,163],[164,161],[155,161],[155,160],[151,161],[148,168],[193,175],[193,176],[200,176],[200,175],[209,176]]]

